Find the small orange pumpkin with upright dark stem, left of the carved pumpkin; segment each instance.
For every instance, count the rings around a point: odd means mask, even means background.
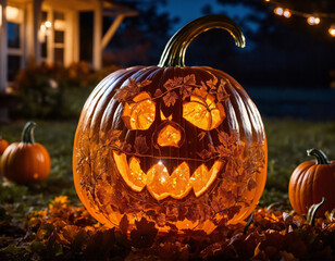
[[[40,182],[50,172],[47,149],[34,140],[36,123],[28,122],[22,132],[22,141],[11,144],[1,157],[1,173],[16,183]]]

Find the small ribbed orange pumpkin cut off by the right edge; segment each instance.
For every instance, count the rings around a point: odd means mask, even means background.
[[[307,154],[314,157],[315,161],[301,163],[291,174],[289,201],[298,214],[307,214],[309,208],[324,197],[325,204],[318,212],[323,215],[326,210],[335,208],[335,161],[328,161],[319,149],[310,149]]]

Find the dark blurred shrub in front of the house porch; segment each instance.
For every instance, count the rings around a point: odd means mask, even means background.
[[[69,119],[77,117],[92,88],[108,74],[117,70],[112,66],[92,72],[86,62],[69,67],[30,64],[22,70],[12,86],[18,102],[11,116]],[[106,73],[103,75],[103,73]]]

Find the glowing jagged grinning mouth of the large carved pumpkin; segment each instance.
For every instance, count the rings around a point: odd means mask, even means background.
[[[127,161],[125,153],[113,151],[113,158],[120,175],[129,188],[139,192],[147,187],[148,191],[157,200],[167,197],[182,199],[191,189],[196,197],[200,197],[215,181],[223,165],[223,162],[215,161],[211,169],[208,170],[204,164],[201,164],[190,175],[188,164],[183,161],[170,174],[165,165],[158,161],[145,173],[140,167],[140,160],[134,156]]]

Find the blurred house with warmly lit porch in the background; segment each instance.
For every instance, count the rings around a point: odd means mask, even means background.
[[[63,66],[78,62],[80,12],[94,12],[91,66],[98,70],[102,50],[136,11],[111,0],[0,0],[0,92],[32,59]],[[114,17],[104,35],[103,16]]]

